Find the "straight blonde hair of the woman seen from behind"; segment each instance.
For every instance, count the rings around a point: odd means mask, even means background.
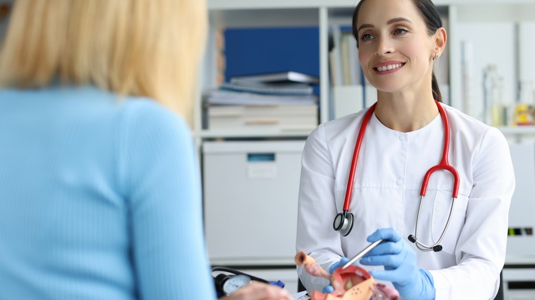
[[[16,0],[0,86],[95,84],[151,97],[191,124],[204,0]]]

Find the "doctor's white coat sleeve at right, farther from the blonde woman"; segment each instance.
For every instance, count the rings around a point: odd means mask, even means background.
[[[456,266],[430,271],[436,299],[493,299],[506,257],[514,171],[506,139],[490,127],[474,154],[473,187],[455,249]]]

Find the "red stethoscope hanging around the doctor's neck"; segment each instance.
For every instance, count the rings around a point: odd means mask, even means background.
[[[448,153],[449,153],[449,123],[448,123],[448,117],[446,116],[446,112],[444,112],[444,108],[442,108],[442,105],[438,103],[438,101],[435,101],[436,106],[438,107],[438,112],[440,112],[440,116],[442,116],[442,121],[444,122],[444,149],[442,150],[442,160],[440,161],[440,164],[437,164],[436,166],[433,166],[425,173],[423,182],[422,182],[422,189],[420,190],[420,205],[418,206],[418,216],[416,217],[416,232],[411,235],[409,235],[408,239],[411,242],[414,242],[416,244],[416,247],[422,251],[435,251],[438,252],[442,250],[442,246],[440,246],[440,242],[442,241],[442,238],[444,238],[444,234],[446,233],[446,230],[448,229],[449,221],[451,220],[451,214],[453,213],[453,204],[455,203],[455,199],[457,198],[457,194],[459,192],[459,173],[457,173],[457,170],[453,168],[448,162]],[[353,229],[353,214],[348,212],[349,205],[351,201],[351,193],[353,192],[353,182],[355,181],[355,170],[357,169],[357,160],[359,158],[359,151],[360,146],[362,144],[362,139],[364,138],[364,132],[366,131],[366,127],[368,126],[368,123],[370,123],[370,118],[375,111],[375,106],[377,105],[377,102],[374,103],[368,112],[366,112],[366,115],[364,116],[364,119],[362,120],[362,124],[360,126],[359,135],[357,136],[357,142],[355,143],[355,151],[353,151],[353,160],[351,161],[351,168],[349,171],[349,178],[347,182],[347,190],[346,190],[346,199],[344,200],[344,210],[343,212],[338,213],[335,216],[333,227],[336,231],[340,231],[340,234],[342,236],[347,236],[351,229]],[[449,216],[448,221],[446,222],[446,225],[444,226],[444,229],[442,230],[442,234],[440,235],[440,238],[436,243],[433,245],[425,245],[423,242],[420,242],[418,238],[416,238],[416,235],[418,234],[418,222],[420,221],[420,210],[422,208],[422,202],[425,197],[425,191],[427,190],[427,183],[429,182],[429,177],[431,177],[431,174],[437,170],[445,170],[449,171],[452,175],[454,180],[453,183],[453,198],[451,199],[451,208],[449,210]]]

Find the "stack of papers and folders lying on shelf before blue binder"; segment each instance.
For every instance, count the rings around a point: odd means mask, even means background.
[[[235,78],[205,97],[208,129],[311,131],[318,126],[318,96],[309,84]]]

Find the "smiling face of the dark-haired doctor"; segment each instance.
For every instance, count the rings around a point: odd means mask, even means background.
[[[434,40],[412,0],[367,0],[358,12],[359,61],[383,92],[431,85]]]

